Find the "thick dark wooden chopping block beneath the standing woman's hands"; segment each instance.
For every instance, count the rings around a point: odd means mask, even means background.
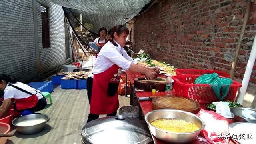
[[[166,78],[161,77],[157,77],[154,80],[146,80],[145,78],[135,78],[134,87],[146,91],[152,91],[152,89],[164,91],[165,82]]]

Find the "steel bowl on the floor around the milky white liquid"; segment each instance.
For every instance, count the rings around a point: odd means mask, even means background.
[[[43,118],[45,121],[33,126],[17,126],[18,122],[35,118]],[[17,131],[21,134],[36,134],[44,130],[46,123],[49,122],[49,120],[50,118],[46,114],[28,114],[19,118],[14,118],[14,120],[12,120],[12,124],[17,127]]]

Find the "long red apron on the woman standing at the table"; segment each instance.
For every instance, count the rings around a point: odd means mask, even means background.
[[[95,74],[93,77],[91,114],[112,114],[119,107],[118,86],[121,70],[114,64],[108,70]]]

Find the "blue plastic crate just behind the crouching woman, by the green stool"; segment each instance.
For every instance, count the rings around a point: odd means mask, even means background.
[[[40,90],[41,92],[53,92],[52,81],[47,82],[30,82],[29,86],[35,88],[36,90]]]

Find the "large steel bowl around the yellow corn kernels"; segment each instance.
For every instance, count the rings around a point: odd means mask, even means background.
[[[192,122],[196,124],[196,126],[198,126],[199,130],[195,132],[188,132],[188,133],[177,133],[177,132],[162,130],[150,124],[150,122],[160,118],[177,118],[177,119],[185,120],[188,122]],[[145,120],[150,128],[150,131],[156,138],[160,140],[164,140],[166,142],[172,142],[172,143],[191,142],[198,137],[200,131],[203,130],[205,127],[205,124],[202,121],[202,119],[196,116],[195,114],[192,114],[191,112],[186,112],[183,110],[175,110],[175,109],[153,110],[146,114]]]

